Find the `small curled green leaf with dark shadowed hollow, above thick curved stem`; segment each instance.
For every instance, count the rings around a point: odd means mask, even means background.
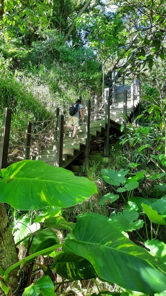
[[[30,243],[30,252],[36,253],[53,245],[59,244],[59,238],[57,237],[55,232],[48,228],[34,234],[34,236],[32,236],[31,238]],[[29,240],[27,239],[24,241],[24,246],[28,248],[28,244]]]

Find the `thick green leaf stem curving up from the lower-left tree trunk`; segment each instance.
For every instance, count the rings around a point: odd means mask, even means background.
[[[50,253],[51,253],[51,252],[54,251],[55,249],[58,249],[58,248],[63,247],[63,246],[64,246],[64,244],[54,245],[54,246],[52,246],[52,247],[49,247],[49,248],[46,248],[46,249],[44,249],[44,250],[38,251],[38,252],[36,252],[36,253],[34,253],[34,254],[32,254],[32,255],[30,255],[30,256],[28,256],[28,257],[22,259],[22,260],[16,262],[15,264],[11,265],[11,266],[10,266],[9,268],[7,268],[7,269],[5,270],[5,272],[4,272],[4,275],[3,275],[3,280],[4,280],[4,282],[7,282],[7,280],[8,280],[8,276],[9,276],[9,273],[10,273],[13,269],[15,269],[16,267],[20,266],[21,264],[24,264],[25,262],[27,262],[27,261],[29,261],[29,260],[31,260],[31,259],[33,259],[33,258],[35,258],[35,257],[37,257],[37,256],[39,256],[39,255],[42,255],[42,254],[47,253],[47,252],[50,252]]]

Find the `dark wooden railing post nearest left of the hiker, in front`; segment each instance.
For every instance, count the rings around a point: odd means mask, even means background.
[[[58,115],[57,130],[58,131],[57,131],[56,166],[62,167],[63,140],[64,140],[64,115]]]

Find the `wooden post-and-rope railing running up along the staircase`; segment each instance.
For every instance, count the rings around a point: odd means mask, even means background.
[[[125,89],[124,82],[123,87],[123,114],[124,121],[127,120],[128,112],[128,99],[133,100],[133,116],[134,116],[134,100],[139,100],[140,98],[140,83],[139,79],[134,79],[131,86],[131,94]],[[85,127],[84,138],[86,139],[86,147],[84,151],[84,166],[88,166],[89,162],[89,151],[90,151],[90,124],[92,121],[97,121],[103,119],[105,121],[105,132],[104,132],[104,156],[109,154],[109,131],[110,131],[110,119],[111,112],[110,107],[116,108],[116,84],[115,84],[115,72],[113,74],[112,86],[105,88],[104,90],[104,102],[102,96],[98,98],[95,96],[93,103],[90,100],[86,101],[84,106],[85,123],[81,128]],[[9,148],[9,138],[10,138],[10,125],[12,111],[9,108],[5,108],[1,114],[2,127],[1,127],[1,141],[0,141],[0,168],[5,168],[7,166],[8,148]],[[53,118],[53,116],[52,116]],[[52,121],[51,121],[52,120]],[[52,125],[52,136],[50,136],[50,141],[54,141],[56,144],[56,166],[61,167],[63,162],[63,140],[64,135],[69,133],[64,125],[64,115],[60,114],[60,109],[57,108],[53,119],[45,120],[43,122],[49,122]],[[48,125],[49,125],[48,124]],[[41,129],[43,131],[44,129]],[[25,144],[21,147],[24,148],[24,155],[22,159],[33,158],[31,156],[31,149],[35,147],[44,148],[46,144],[43,143],[44,133],[36,133],[33,131],[33,122],[28,122],[27,129],[25,133],[21,132],[25,136]],[[41,137],[40,137],[41,135]],[[42,138],[41,145],[32,142],[32,137]],[[52,137],[52,138],[51,138]],[[20,147],[20,146],[19,146]]]

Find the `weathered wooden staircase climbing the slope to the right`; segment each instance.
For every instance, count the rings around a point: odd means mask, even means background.
[[[138,99],[133,101],[131,95],[130,86],[116,86],[115,88],[115,100],[110,106],[110,122],[109,126],[117,130],[120,130],[121,124],[124,122],[123,108],[124,108],[124,89],[128,92],[127,100],[127,116],[131,117],[134,109],[139,104]],[[134,103],[134,104],[133,104]],[[101,135],[104,135],[107,122],[105,122],[104,114],[90,122],[90,141],[91,143],[98,139]],[[64,134],[63,139],[63,162],[62,167],[66,168],[75,158],[77,158],[86,148],[85,139],[85,124],[83,124],[77,132],[77,136],[72,138],[68,133]],[[57,142],[52,142],[49,147],[44,148],[42,151],[38,151],[36,160],[42,160],[49,165],[57,165]],[[34,159],[34,158],[33,158]]]

